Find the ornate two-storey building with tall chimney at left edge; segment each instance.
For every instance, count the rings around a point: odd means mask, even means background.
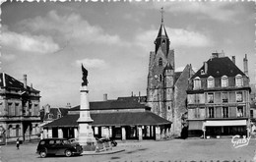
[[[0,74],[0,137],[2,144],[9,141],[31,140],[40,135],[39,91],[23,82]]]

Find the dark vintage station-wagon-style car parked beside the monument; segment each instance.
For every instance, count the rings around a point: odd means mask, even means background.
[[[39,141],[36,152],[40,157],[46,157],[47,155],[70,157],[74,154],[82,154],[83,148],[79,143],[71,143],[65,138],[44,138]]]

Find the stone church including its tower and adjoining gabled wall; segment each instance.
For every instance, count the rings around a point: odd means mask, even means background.
[[[188,79],[194,75],[191,65],[182,72],[175,72],[174,50],[169,49],[170,41],[161,19],[155,51],[150,53],[147,104],[160,117],[171,121],[172,135],[180,135],[182,115],[186,109]]]

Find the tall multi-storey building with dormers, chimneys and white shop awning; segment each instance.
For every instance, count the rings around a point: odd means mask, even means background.
[[[188,93],[189,136],[249,135],[250,85],[244,72],[224,53],[213,53],[191,78]]]

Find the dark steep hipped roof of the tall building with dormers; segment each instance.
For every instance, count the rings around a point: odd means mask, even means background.
[[[210,76],[214,78],[235,77],[236,75],[245,76],[245,74],[238,68],[228,57],[216,57],[207,61],[207,73],[202,74],[201,70],[204,71],[205,65],[200,68],[197,73],[192,77],[195,79],[208,78]]]

